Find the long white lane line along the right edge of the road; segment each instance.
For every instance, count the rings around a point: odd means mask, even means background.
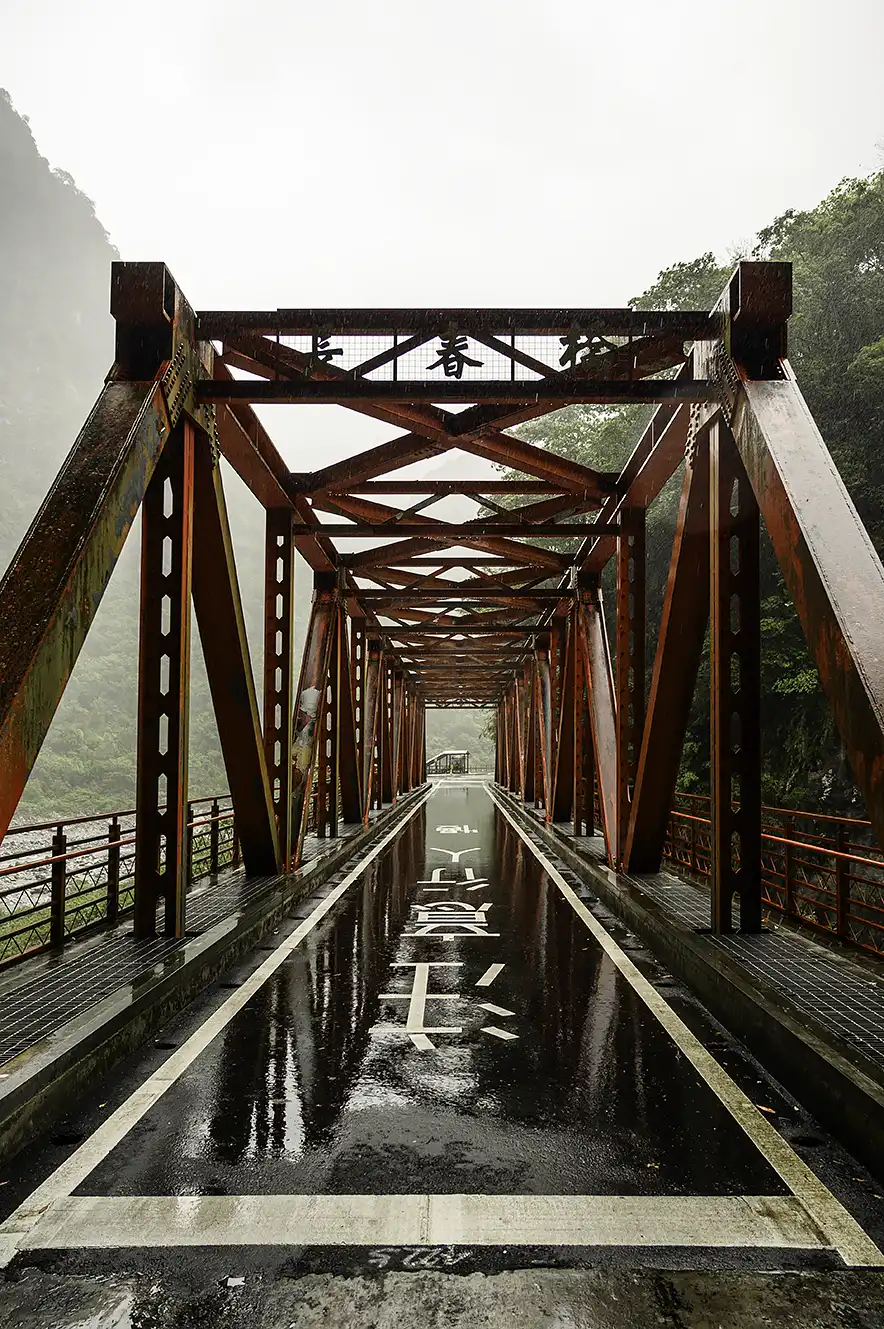
[[[669,1002],[661,997],[659,991],[635,968],[629,956],[617,945],[611,934],[602,928],[600,921],[589,912],[586,905],[572,890],[561,872],[553,867],[546,855],[537,848],[528,833],[518,825],[508,809],[498,801],[497,796],[488,788],[488,796],[510,824],[516,835],[524,840],[544,872],[556,882],[564,897],[570,904],[574,913],[581,918],[605,954],[613,961],[627,983],[638,993],[651,1014],[657,1017],[675,1046],[685,1054],[694,1070],[717,1098],[724,1104],[734,1120],[746,1131],[752,1144],[763,1154],[774,1171],[782,1177],[815,1223],[827,1235],[828,1244],[832,1245],[849,1265],[884,1265],[884,1253],[875,1245],[868,1233],[860,1227],[856,1219],[844,1208],[832,1192],[824,1185],[815,1172],[807,1167],[798,1156],[791,1144],[771,1126],[758,1111],[750,1098],[727,1074],[715,1058],[703,1047],[701,1041],[691,1034],[690,1029],[675,1014]]]

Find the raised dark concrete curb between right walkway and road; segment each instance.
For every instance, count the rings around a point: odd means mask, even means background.
[[[654,952],[762,1065],[872,1172],[884,1158],[884,1069],[873,1067],[782,993],[750,978],[702,933],[679,922],[633,878],[580,853],[554,825],[534,820],[495,785],[521,825],[533,831]]]

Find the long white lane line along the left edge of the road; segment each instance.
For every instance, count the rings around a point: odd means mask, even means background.
[[[291,953],[300,945],[304,937],[312,932],[318,922],[320,922],[328,910],[335,905],[346,890],[356,881],[358,877],[366,870],[366,868],[374,863],[374,860],[384,852],[387,845],[401,835],[403,829],[408,825],[411,819],[420,812],[428,799],[435,793],[435,788],[431,788],[413,808],[405,813],[401,821],[383,836],[378,844],[375,844],[368,853],[359,860],[359,863],[351,868],[347,876],[331,890],[323,901],[320,901],[307,918],[300,922],[292,933],[282,941],[274,952],[255,969],[255,971],[246,978],[241,987],[227,997],[222,1005],[211,1013],[211,1015],[203,1021],[199,1029],[194,1030],[190,1038],[181,1045],[177,1051],[171,1053],[170,1057],[148,1076],[144,1084],[140,1084],[133,1094],[121,1103],[116,1112],[112,1112],[106,1122],[92,1132],[92,1135],[82,1142],[80,1148],[74,1150],[73,1154],[61,1163],[55,1172],[52,1172],[45,1181],[43,1181],[36,1191],[24,1200],[13,1213],[0,1223],[0,1269],[4,1269],[16,1251],[21,1247],[28,1247],[31,1244],[31,1237],[33,1236],[35,1227],[40,1223],[45,1215],[49,1205],[55,1204],[57,1200],[69,1196],[78,1185],[85,1181],[90,1172],[93,1172],[98,1164],[110,1154],[113,1148],[120,1144],[125,1135],[129,1134],[132,1127],[141,1120],[145,1112],[162,1098],[167,1088],[175,1083],[175,1080],[183,1075],[189,1066],[195,1062],[202,1051],[211,1043],[218,1034],[227,1027],[231,1019],[239,1014],[243,1006],[254,997],[254,994],[263,987],[269,978],[279,969],[282,964],[291,956]]]

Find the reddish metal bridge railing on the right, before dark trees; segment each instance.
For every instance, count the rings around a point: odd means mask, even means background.
[[[711,878],[707,795],[675,795],[665,859],[682,876]],[[762,808],[762,900],[776,913],[884,956],[884,852],[869,821]]]

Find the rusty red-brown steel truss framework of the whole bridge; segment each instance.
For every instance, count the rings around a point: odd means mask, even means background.
[[[428,706],[496,707],[497,780],[578,833],[597,788],[609,863],[657,870],[709,629],[713,926],[736,894],[759,928],[760,517],[884,843],[884,573],[786,359],[788,264],[740,263],[711,312],[194,314],[164,264],[116,263],[112,312],[106,384],[0,585],[0,836],[141,506],[140,934],[161,900],[183,930],[191,598],[259,874],[298,861],[314,785],[334,833],[421,783]],[[253,409],[269,403],[397,433],[292,473]],[[569,403],[657,409],[619,474],[506,432]],[[451,449],[518,478],[395,477]],[[263,718],[219,455],[266,509]],[[645,696],[645,520],[682,459]],[[449,496],[481,514],[433,514]],[[296,683],[294,549],[314,574]]]

